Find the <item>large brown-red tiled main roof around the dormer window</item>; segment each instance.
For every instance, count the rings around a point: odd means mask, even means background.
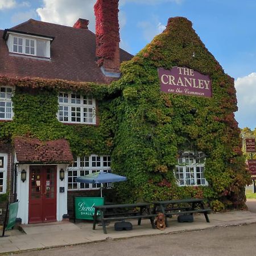
[[[73,28],[29,19],[11,28],[44,36],[53,36],[51,60],[10,54],[0,30],[0,75],[9,77],[40,77],[108,83],[113,79],[105,77],[96,64],[96,37],[88,29]],[[120,49],[121,62],[132,55]]]

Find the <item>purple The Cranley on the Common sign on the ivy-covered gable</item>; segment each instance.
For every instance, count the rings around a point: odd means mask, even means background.
[[[158,68],[161,92],[187,96],[212,97],[212,81],[191,68],[173,67]]]

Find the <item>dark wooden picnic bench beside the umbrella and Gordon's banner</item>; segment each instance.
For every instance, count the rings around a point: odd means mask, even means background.
[[[101,222],[103,232],[106,234],[108,221],[122,221],[131,218],[137,218],[138,225],[141,225],[142,218],[148,218],[152,228],[155,229],[154,218],[156,214],[151,213],[151,205],[150,203],[94,205],[93,230],[96,228],[96,223]]]

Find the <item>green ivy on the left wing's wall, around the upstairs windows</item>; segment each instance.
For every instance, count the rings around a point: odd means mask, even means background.
[[[7,82],[5,82],[7,81]],[[43,141],[68,139],[74,155],[110,154],[113,140],[108,121],[108,100],[102,101],[108,85],[63,82],[58,80],[0,79],[2,85],[15,85],[11,122],[0,122],[0,140],[12,142],[16,135],[36,137]],[[56,118],[59,91],[90,94],[97,99],[100,123],[64,125]],[[106,119],[107,118],[107,119]]]

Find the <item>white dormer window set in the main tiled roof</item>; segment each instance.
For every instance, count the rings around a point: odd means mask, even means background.
[[[35,57],[51,57],[50,44],[53,40],[52,37],[5,30],[3,38],[6,40],[9,52]]]

